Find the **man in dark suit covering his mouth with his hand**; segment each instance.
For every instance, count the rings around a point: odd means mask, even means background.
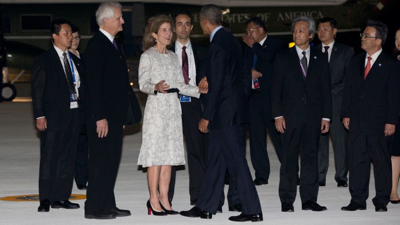
[[[267,129],[281,160],[279,132],[271,119],[270,86],[272,64],[276,53],[282,50],[282,41],[268,36],[264,22],[253,17],[246,21],[244,60],[252,65],[252,89],[249,99],[250,155],[256,171],[255,185],[268,184],[270,161],[267,152]]]

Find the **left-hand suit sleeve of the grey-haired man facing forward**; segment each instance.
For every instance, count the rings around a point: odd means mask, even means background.
[[[271,116],[275,119],[283,116],[281,107],[281,94],[283,89],[283,71],[284,63],[278,54],[275,57],[274,68],[271,77]]]

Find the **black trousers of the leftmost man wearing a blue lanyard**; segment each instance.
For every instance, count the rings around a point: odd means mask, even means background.
[[[71,195],[79,121],[77,109],[71,109],[70,113],[65,132],[40,132],[40,201],[68,200]]]

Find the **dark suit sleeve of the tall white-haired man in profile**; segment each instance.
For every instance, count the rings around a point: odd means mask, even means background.
[[[101,52],[101,46],[96,47],[94,45],[88,46],[85,51],[85,82],[86,82],[86,101],[92,108],[93,117],[95,121],[99,121],[106,118],[106,110],[103,96],[103,66],[104,62]]]

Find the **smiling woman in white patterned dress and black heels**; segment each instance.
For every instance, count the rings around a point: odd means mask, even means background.
[[[143,117],[142,145],[137,164],[147,168],[148,213],[178,214],[168,201],[171,166],[185,164],[180,94],[199,98],[197,87],[185,85],[178,56],[167,50],[172,23],[168,16],[152,17],[143,36],[139,88],[148,94]],[[202,93],[205,93],[202,91]],[[164,210],[164,212],[163,212]]]

